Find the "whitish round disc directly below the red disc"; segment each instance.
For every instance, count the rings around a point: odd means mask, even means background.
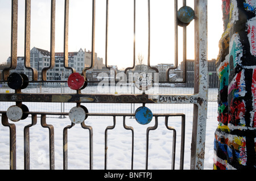
[[[81,107],[73,107],[68,113],[69,119],[74,124],[80,124],[85,120],[86,113]]]

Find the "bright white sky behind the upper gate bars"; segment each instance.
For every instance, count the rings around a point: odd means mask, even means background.
[[[174,63],[174,1],[151,0],[151,65]],[[179,1],[179,7],[182,6]],[[31,0],[31,49],[50,50],[50,0]],[[19,0],[18,56],[24,56],[24,6]],[[193,8],[193,0],[187,0]],[[105,63],[106,0],[96,1],[95,52]],[[208,60],[217,58],[218,41],[223,32],[221,0],[208,0]],[[136,2],[136,55],[147,62],[147,0]],[[11,1],[0,0],[0,63],[10,56]],[[194,23],[187,27],[187,58],[194,59]],[[55,52],[63,52],[64,0],[56,0]],[[182,51],[182,28],[179,49]],[[92,1],[69,1],[69,52],[92,50]],[[108,65],[133,65],[133,0],[109,0]],[[182,52],[179,54],[182,60]]]

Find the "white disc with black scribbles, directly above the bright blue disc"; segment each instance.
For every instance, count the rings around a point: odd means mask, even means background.
[[[153,85],[152,73],[140,73],[135,79],[135,86],[142,91],[151,89]]]

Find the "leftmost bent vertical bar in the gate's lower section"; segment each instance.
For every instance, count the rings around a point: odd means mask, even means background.
[[[16,170],[16,126],[8,122],[6,113],[2,113],[2,125],[10,129],[10,170]]]

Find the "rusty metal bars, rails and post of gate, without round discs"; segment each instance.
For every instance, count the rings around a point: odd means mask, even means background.
[[[108,67],[108,0],[106,0],[106,68]],[[135,3],[134,0],[134,60],[133,67],[126,68],[125,72],[129,69],[133,69],[135,66]],[[177,66],[177,0],[175,3],[175,66]],[[186,5],[186,1],[183,0],[183,6]],[[24,81],[22,83],[31,82],[67,82],[67,81],[47,81],[47,71],[54,68],[55,66],[55,9],[56,1],[51,0],[51,55],[50,63],[48,67],[42,70],[42,80],[38,80],[38,70],[30,66],[30,15],[31,15],[31,1],[26,0],[26,22],[25,22],[25,47],[24,47],[24,66],[26,69],[32,70],[32,81]],[[96,13],[96,0],[92,1],[92,59],[91,65],[84,68],[82,71],[82,76],[86,80],[86,71],[92,69],[94,66],[94,40],[95,40],[95,13]],[[22,88],[18,87],[15,89],[14,93],[10,94],[0,94],[1,102],[15,102],[16,107],[22,108],[23,102],[51,102],[51,103],[75,103],[77,107],[80,107],[81,103],[140,103],[145,106],[147,103],[154,104],[173,104],[173,103],[183,103],[183,104],[193,104],[193,130],[192,130],[192,142],[191,142],[191,169],[203,169],[204,168],[204,145],[205,145],[205,127],[207,120],[207,103],[208,103],[208,70],[207,70],[207,0],[195,0],[195,91],[194,94],[187,95],[171,95],[171,94],[146,94],[144,91],[142,94],[81,94],[81,90],[77,89],[76,93],[68,94],[37,94],[30,93],[26,94],[22,92]],[[1,77],[3,83],[10,82],[10,70],[16,68],[17,65],[17,33],[18,33],[18,0],[12,0],[12,17],[11,17],[11,62],[9,68],[5,68],[1,72]],[[64,68],[72,70],[75,73],[76,70],[68,66],[68,16],[69,16],[69,0],[65,0],[65,18],[64,18]],[[186,26],[183,26],[183,59],[186,61],[187,54],[187,39],[186,39]],[[150,0],[148,0],[148,61],[147,65],[149,68],[155,70],[158,73],[158,69],[151,67],[150,65]],[[171,68],[172,69],[172,68]],[[167,70],[167,83],[171,83],[168,78],[168,73],[171,69]],[[184,71],[184,74],[186,71]],[[185,82],[186,75],[184,75]],[[176,82],[179,83],[179,82]],[[24,87],[23,87],[24,88]],[[26,87],[25,87],[26,89]],[[29,129],[37,122],[37,115],[41,116],[42,127],[49,129],[49,150],[50,158],[49,164],[50,169],[54,169],[54,133],[53,126],[46,123],[46,115],[68,115],[68,113],[60,112],[29,112],[22,110],[23,115],[30,114],[32,116],[32,123],[24,128],[24,169],[30,169],[30,134]],[[16,158],[15,158],[15,124],[9,123],[9,118],[7,117],[8,112],[6,110],[1,110],[2,114],[2,125],[10,128],[10,169],[16,169]],[[108,130],[115,128],[115,117],[123,117],[123,127],[130,130],[133,133],[133,128],[127,127],[125,120],[127,116],[134,116],[129,113],[88,113],[86,116],[111,116],[113,117],[113,126],[107,127],[105,131],[105,169],[107,168],[107,151],[108,151]],[[172,116],[182,117],[182,136],[181,136],[181,159],[180,159],[180,169],[183,169],[184,162],[184,124],[185,115],[183,114],[155,114],[155,126],[147,128],[147,150],[146,159],[148,159],[148,137],[149,132],[154,131],[158,127],[158,117],[166,117],[166,127],[174,133],[174,140],[176,140],[176,131],[172,127],[168,127],[168,118]],[[71,125],[64,128],[63,131],[63,167],[67,169],[67,130],[73,127]],[[84,122],[81,123],[82,128],[88,129],[90,132],[90,169],[93,169],[93,137],[92,137],[92,127],[86,126]],[[133,139],[133,138],[132,138]],[[173,157],[175,157],[175,142],[173,145],[174,151],[172,151]],[[131,169],[133,169],[133,145],[131,153]],[[172,169],[174,169],[174,161],[172,159]],[[146,162],[147,169],[148,161]]]

